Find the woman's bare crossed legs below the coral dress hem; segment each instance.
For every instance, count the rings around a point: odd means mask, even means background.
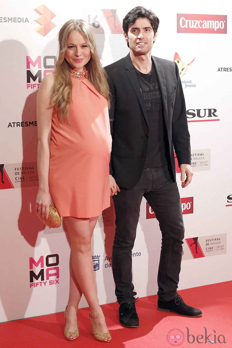
[[[70,292],[65,326],[67,331],[74,332],[77,329],[77,310],[82,293],[88,302],[95,332],[103,334],[108,330],[98,304],[91,252],[91,238],[97,218],[82,220],[64,217],[71,239]]]

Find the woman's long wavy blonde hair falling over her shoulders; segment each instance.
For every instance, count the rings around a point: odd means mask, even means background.
[[[67,39],[73,30],[78,30],[89,45],[91,58],[85,65],[88,70],[88,79],[97,89],[97,91],[106,98],[108,106],[109,85],[105,70],[102,68],[100,57],[96,49],[96,41],[93,29],[83,19],[70,19],[62,26],[59,31],[59,54],[55,63],[55,78],[51,90],[50,106],[58,111],[61,122],[69,120],[69,105],[71,102],[72,84],[70,80],[69,64],[65,59],[67,48]]]

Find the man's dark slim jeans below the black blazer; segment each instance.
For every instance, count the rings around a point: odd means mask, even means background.
[[[162,301],[172,300],[176,296],[179,282],[184,238],[182,207],[176,182],[171,179],[168,166],[165,165],[144,169],[139,182],[133,189],[120,188],[120,190],[116,196],[113,196],[116,230],[112,268],[117,300],[119,304],[135,301],[131,253],[143,196],[153,209],[162,233],[158,297]]]

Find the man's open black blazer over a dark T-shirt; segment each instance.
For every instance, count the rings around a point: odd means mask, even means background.
[[[178,66],[153,57],[161,91],[166,154],[169,171],[175,181],[175,158],[178,164],[191,164],[190,135]],[[149,129],[145,102],[130,55],[105,67],[111,92],[110,118],[112,152],[110,173],[119,187],[131,189],[139,181],[147,153]]]

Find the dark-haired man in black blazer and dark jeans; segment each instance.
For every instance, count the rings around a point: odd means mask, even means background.
[[[116,214],[112,267],[120,304],[119,320],[127,327],[139,326],[131,251],[143,196],[162,232],[158,310],[190,317],[202,314],[199,309],[187,306],[176,291],[184,224],[173,146],[181,169],[182,188],[191,182],[193,173],[178,67],[174,62],[151,56],[158,25],[159,19],[151,10],[140,6],[132,9],[122,24],[129,54],[105,68],[112,94],[110,171]]]

